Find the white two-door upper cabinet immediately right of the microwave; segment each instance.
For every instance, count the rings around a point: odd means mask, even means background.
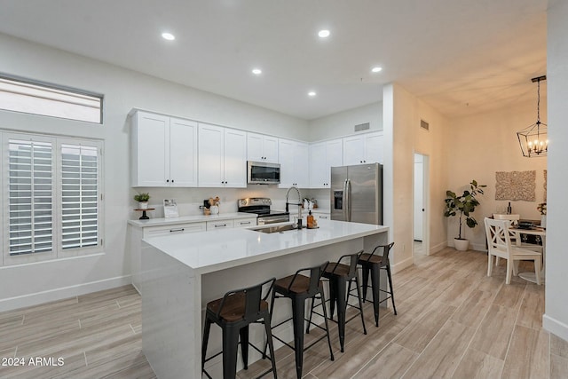
[[[279,140],[280,188],[310,186],[310,154],[308,144],[291,139]]]

